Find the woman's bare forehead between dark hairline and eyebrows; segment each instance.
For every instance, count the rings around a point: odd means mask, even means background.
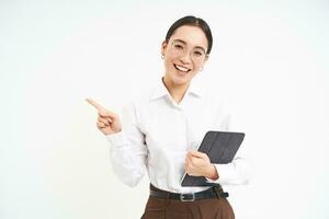
[[[183,25],[178,27],[170,37],[170,41],[180,39],[190,46],[207,48],[207,38],[204,32],[197,26]]]

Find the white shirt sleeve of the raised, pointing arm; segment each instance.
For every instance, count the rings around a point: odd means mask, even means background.
[[[136,186],[146,171],[147,147],[138,128],[136,106],[123,108],[122,131],[106,135],[114,173],[128,186]]]

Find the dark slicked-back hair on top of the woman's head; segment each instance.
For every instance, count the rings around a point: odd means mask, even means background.
[[[197,26],[204,32],[204,34],[206,35],[207,41],[208,41],[207,54],[209,54],[212,50],[212,47],[213,47],[212,31],[211,31],[211,27],[208,26],[208,24],[200,18],[189,15],[189,16],[184,16],[184,18],[177,20],[168,30],[167,35],[166,35],[166,42],[168,43],[169,38],[174,33],[174,31],[178,27],[183,26],[183,25]]]

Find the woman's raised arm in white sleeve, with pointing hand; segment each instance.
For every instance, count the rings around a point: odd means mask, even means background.
[[[147,149],[138,128],[135,106],[123,111],[123,125],[117,114],[104,108],[91,99],[87,102],[98,110],[97,126],[112,147],[110,157],[114,173],[127,185],[135,186],[145,173]]]

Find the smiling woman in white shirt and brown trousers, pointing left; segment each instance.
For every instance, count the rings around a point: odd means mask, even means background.
[[[205,176],[220,185],[245,184],[245,159],[213,164],[197,152],[205,132],[228,130],[229,115],[192,79],[203,69],[213,45],[205,21],[184,16],[172,24],[161,45],[164,76],[156,89],[136,100],[118,116],[88,100],[99,111],[97,126],[112,143],[114,172],[135,186],[145,171],[150,196],[143,218],[235,218],[222,187],[182,187],[181,178]]]

